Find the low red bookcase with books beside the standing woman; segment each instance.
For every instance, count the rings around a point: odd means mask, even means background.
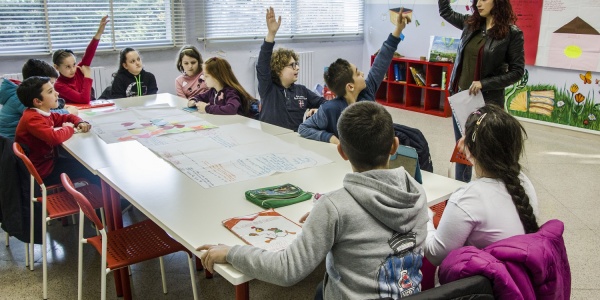
[[[375,56],[371,56],[371,64],[374,59]],[[415,80],[411,68],[422,75],[423,85]],[[451,72],[450,63],[393,58],[375,100],[387,106],[449,117],[451,109],[448,104],[448,82]]]

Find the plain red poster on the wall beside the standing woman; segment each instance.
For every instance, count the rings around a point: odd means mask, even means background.
[[[517,26],[525,38],[525,64],[534,65],[537,55],[543,0],[510,0],[517,14]]]

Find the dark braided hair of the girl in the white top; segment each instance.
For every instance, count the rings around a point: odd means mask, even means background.
[[[466,123],[465,145],[485,177],[504,182],[525,233],[538,231],[533,208],[521,184],[519,158],[523,153],[525,129],[499,106],[487,104],[475,111]]]

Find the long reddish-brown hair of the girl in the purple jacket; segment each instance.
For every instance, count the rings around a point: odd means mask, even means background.
[[[218,57],[207,59],[204,62],[204,72],[210,74],[223,86],[229,86],[235,89],[240,95],[240,100],[242,100],[242,111],[244,114],[248,113],[250,103],[254,100],[254,97],[246,92],[244,87],[239,83],[227,60]]]

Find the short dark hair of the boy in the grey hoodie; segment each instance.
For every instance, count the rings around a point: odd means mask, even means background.
[[[342,150],[359,172],[386,167],[394,143],[390,113],[373,101],[361,101],[346,108],[338,120]]]

